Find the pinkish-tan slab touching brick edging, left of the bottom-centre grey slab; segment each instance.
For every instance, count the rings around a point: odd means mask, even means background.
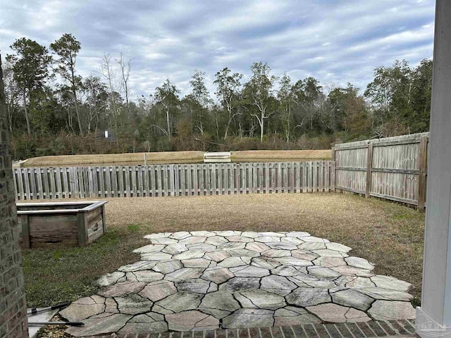
[[[219,320],[199,311],[185,311],[166,315],[166,321],[169,330],[173,331],[191,331],[196,327],[198,330],[215,330],[219,327]],[[202,322],[204,323],[202,324]],[[205,325],[205,323],[208,323],[209,326],[204,329],[202,325]]]

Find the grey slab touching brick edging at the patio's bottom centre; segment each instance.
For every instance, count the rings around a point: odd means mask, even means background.
[[[240,308],[233,314],[223,318],[224,329],[235,329],[242,327],[267,327],[273,326],[273,311]]]

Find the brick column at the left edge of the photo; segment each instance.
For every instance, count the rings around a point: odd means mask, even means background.
[[[28,337],[27,308],[0,57],[0,337]]]

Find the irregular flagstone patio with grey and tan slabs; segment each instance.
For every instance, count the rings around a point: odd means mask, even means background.
[[[411,319],[411,284],[374,275],[350,247],[307,232],[194,231],[145,236],[141,261],[61,315],[76,337]]]

